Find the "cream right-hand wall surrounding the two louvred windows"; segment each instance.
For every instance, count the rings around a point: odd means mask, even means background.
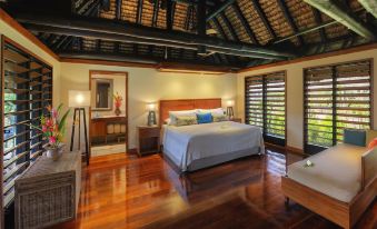
[[[238,113],[245,119],[245,77],[260,73],[268,73],[274,71],[287,71],[287,146],[302,149],[302,133],[304,133],[304,68],[331,64],[337,62],[346,62],[353,60],[363,60],[374,58],[374,66],[377,66],[377,49],[368,51],[354,52],[341,56],[334,56],[328,58],[320,58],[316,60],[296,62],[285,66],[277,66],[271,68],[250,70],[238,73],[237,76],[237,99]],[[374,68],[374,77],[377,77],[377,68]],[[374,80],[374,94],[377,94],[377,80]],[[377,128],[377,99],[374,98],[374,125]]]

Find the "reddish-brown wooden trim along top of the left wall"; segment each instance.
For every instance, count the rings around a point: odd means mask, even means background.
[[[19,33],[21,33],[23,37],[29,39],[33,44],[42,49],[44,52],[50,54],[53,59],[57,61],[60,61],[60,58],[42,41],[40,41],[36,36],[33,36],[29,30],[23,28],[19,22],[17,22],[12,17],[10,17],[3,9],[0,8],[0,19],[4,21],[8,26],[17,30]]]

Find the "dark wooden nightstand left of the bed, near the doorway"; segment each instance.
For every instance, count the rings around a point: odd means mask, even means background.
[[[139,156],[156,153],[160,151],[160,127],[139,126]]]

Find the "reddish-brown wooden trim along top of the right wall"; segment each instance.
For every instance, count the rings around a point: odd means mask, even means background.
[[[310,60],[317,60],[321,58],[329,58],[329,57],[336,57],[336,56],[341,56],[341,54],[348,54],[348,53],[354,53],[354,52],[360,52],[360,51],[367,51],[371,49],[377,49],[377,43],[369,43],[369,44],[363,44],[359,47],[354,47],[349,49],[344,49],[344,50],[338,50],[338,51],[333,51],[333,52],[327,52],[327,53],[321,53],[321,54],[314,54],[309,57],[302,57],[302,58],[297,58],[294,60],[285,60],[276,63],[267,63],[262,66],[256,66],[256,67],[250,67],[250,68],[245,68],[237,73],[242,73],[247,71],[255,71],[255,70],[260,70],[260,69],[267,69],[267,68],[272,68],[272,67],[279,67],[279,66],[286,66],[286,64],[291,64],[291,63],[298,63],[298,62],[305,62],[305,61],[310,61]]]

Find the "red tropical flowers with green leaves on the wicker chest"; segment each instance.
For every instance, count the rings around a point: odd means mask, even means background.
[[[48,139],[49,143],[47,149],[58,149],[63,140],[66,133],[66,121],[70,110],[67,110],[61,116],[60,112],[62,106],[63,104],[60,103],[57,109],[52,108],[50,104],[47,106],[49,114],[42,116],[40,118],[41,127],[32,126],[33,128],[40,130]]]

